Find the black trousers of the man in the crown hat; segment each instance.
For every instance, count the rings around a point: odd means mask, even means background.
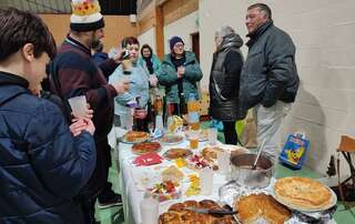
[[[113,193],[111,190],[111,183],[108,182],[109,169],[111,166],[111,146],[108,139],[95,142],[97,146],[97,165],[87,183],[81,190],[78,198],[81,204],[82,213],[85,224],[95,223],[95,201],[106,200]]]

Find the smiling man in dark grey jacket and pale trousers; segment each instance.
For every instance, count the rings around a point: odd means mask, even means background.
[[[295,45],[287,33],[273,24],[271,9],[255,3],[247,9],[245,21],[250,38],[248,53],[241,74],[244,110],[254,106],[257,142],[277,155],[281,125],[298,89]]]

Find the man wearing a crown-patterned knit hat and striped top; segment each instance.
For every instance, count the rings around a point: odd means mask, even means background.
[[[104,206],[122,204],[121,196],[111,190],[108,182],[111,166],[111,147],[108,133],[112,128],[113,99],[128,89],[122,80],[108,84],[109,77],[121,63],[120,57],[100,63],[91,58],[91,47],[103,38],[103,17],[95,0],[73,0],[70,18],[70,33],[51,63],[51,89],[62,99],[85,95],[93,109],[97,146],[97,166],[78,196],[85,214],[85,224],[94,223],[94,203]],[[120,54],[118,54],[120,55]]]

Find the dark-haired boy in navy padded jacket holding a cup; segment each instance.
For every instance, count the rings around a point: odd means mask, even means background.
[[[69,129],[60,109],[37,96],[55,54],[42,20],[0,9],[0,223],[83,223],[73,197],[95,165],[93,123]]]

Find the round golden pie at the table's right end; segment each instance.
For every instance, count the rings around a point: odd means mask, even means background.
[[[280,202],[300,210],[324,210],[333,203],[332,192],[322,183],[308,177],[278,179],[274,191]]]

